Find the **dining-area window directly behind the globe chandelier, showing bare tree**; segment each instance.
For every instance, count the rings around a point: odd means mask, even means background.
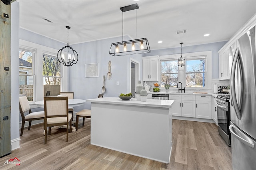
[[[60,94],[61,65],[56,56],[43,53],[44,95],[50,91],[50,96]]]

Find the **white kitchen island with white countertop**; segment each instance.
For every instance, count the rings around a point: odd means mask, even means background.
[[[103,97],[86,102],[91,102],[91,144],[170,162],[173,100]]]

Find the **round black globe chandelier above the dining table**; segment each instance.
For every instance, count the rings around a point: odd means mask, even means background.
[[[66,28],[70,29],[70,26],[66,26]],[[62,63],[67,67],[72,66],[73,64],[76,64],[78,61],[77,52],[69,45],[66,45],[65,47],[60,49],[58,51],[57,57],[60,63]]]

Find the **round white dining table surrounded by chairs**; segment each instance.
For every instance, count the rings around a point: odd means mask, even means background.
[[[81,105],[84,105],[85,102],[86,102],[86,100],[83,100],[83,99],[68,99],[68,106],[69,107],[81,106]],[[36,101],[35,104],[38,107],[44,108],[43,100]],[[76,120],[72,121],[72,124],[74,124],[75,122],[76,122]],[[61,128],[66,128],[66,125],[62,126]],[[72,126],[72,132],[75,132],[75,131],[76,131],[76,127]]]

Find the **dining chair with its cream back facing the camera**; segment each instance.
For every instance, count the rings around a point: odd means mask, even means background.
[[[68,131],[72,129],[72,115],[68,113],[68,97],[44,97],[44,129],[49,128],[48,135],[51,134],[51,127],[66,125],[68,142]],[[68,128],[69,125],[69,128]],[[44,144],[47,143],[47,133],[44,135]]]

